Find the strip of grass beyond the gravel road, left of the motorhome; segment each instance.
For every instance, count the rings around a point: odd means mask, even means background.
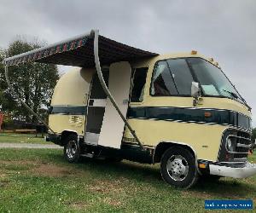
[[[38,134],[15,134],[15,133],[0,133],[0,143],[40,143],[40,144],[53,144],[46,142],[44,138]]]

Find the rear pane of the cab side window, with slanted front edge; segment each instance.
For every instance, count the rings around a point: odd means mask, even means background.
[[[166,61],[159,61],[156,66],[154,66],[151,95],[177,95],[172,72]]]

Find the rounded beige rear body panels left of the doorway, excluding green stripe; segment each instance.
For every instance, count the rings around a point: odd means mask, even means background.
[[[75,67],[65,73],[55,86],[51,106],[86,106],[93,72],[95,71]],[[84,124],[85,112],[84,115],[61,113],[49,115],[49,125],[57,133],[71,130],[78,135],[84,135]]]

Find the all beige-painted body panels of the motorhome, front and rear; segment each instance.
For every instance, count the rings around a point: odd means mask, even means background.
[[[143,101],[131,102],[129,107],[228,109],[251,117],[251,112],[247,110],[245,105],[227,98],[203,97],[198,106],[194,107],[192,97],[155,97],[149,95],[155,62],[158,60],[184,57],[200,57],[216,65],[212,60],[198,54],[159,55],[148,60],[133,61],[131,63],[132,68],[148,67],[148,74],[143,93]],[[95,73],[94,70],[74,68],[72,71],[64,74],[55,87],[51,106],[86,107],[93,73]],[[150,147],[154,150],[160,142],[183,144],[187,145],[195,152],[196,158],[213,162],[218,159],[218,152],[224,131],[230,129],[229,125],[221,124],[195,124],[137,118],[131,118],[128,119],[128,121],[145,147]],[[49,115],[49,126],[58,134],[68,130],[74,131],[80,136],[84,136],[84,124],[86,124],[85,113],[84,115]],[[129,141],[131,143],[134,141],[130,131],[127,129],[125,129],[123,141]]]

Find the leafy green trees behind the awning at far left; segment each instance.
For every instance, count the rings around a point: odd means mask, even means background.
[[[26,51],[39,48],[38,43],[28,43],[18,39],[10,43],[5,50],[6,55],[19,55]],[[1,56],[0,56],[1,57]],[[3,60],[3,54],[2,59]],[[56,81],[59,79],[57,67],[40,63],[26,63],[18,66],[9,66],[9,79],[15,93],[36,113],[44,112],[49,107],[49,99],[53,93]],[[2,110],[9,112],[13,118],[26,122],[36,122],[26,108],[22,107],[13,95],[10,94],[4,78],[4,67],[0,66],[0,105]],[[42,115],[41,115],[42,116]],[[45,117],[45,113],[43,113]]]

